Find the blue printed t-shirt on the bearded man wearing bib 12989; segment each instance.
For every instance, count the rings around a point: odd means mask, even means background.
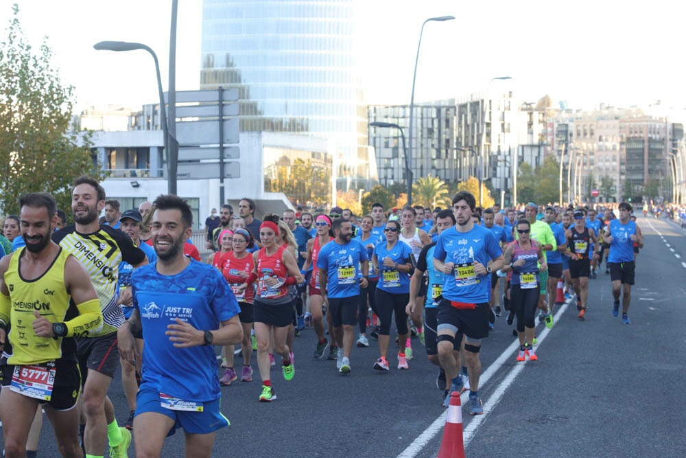
[[[327,271],[327,295],[359,296],[359,263],[366,260],[367,251],[357,240],[342,245],[331,240],[325,244],[317,255],[317,267]]]

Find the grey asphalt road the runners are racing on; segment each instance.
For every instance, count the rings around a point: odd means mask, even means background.
[[[468,457],[686,456],[686,231],[664,219],[640,216],[638,223],[646,248],[637,262],[632,324],[612,316],[604,269],[590,281],[586,321],[571,305],[558,310],[552,330],[539,325],[539,361],[515,363],[511,328],[504,319],[496,323],[481,352],[486,414],[462,411]],[[294,380],[272,370],[278,400],[257,401],[254,359],[252,382],[222,388],[231,426],[217,434],[213,456],[436,457],[445,409],[436,368],[418,341],[409,370],[395,369],[390,358],[392,369],[380,373],[372,369],[378,349],[370,340],[353,350],[349,376],[340,376],[334,361],[311,357],[315,341],[312,330],[296,338]],[[123,423],[128,409],[118,378],[110,397]],[[183,455],[181,433],[167,439],[163,455]],[[57,456],[47,419],[39,456]]]

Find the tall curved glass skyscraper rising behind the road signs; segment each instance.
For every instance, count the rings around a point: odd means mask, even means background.
[[[376,168],[355,77],[353,3],[204,0],[200,89],[239,90],[241,131],[333,140],[339,180],[366,187]]]

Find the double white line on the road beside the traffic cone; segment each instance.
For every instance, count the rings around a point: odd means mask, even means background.
[[[686,264],[686,263],[684,263]],[[686,266],[685,266],[686,267]],[[567,307],[569,306],[569,303],[571,303],[571,300],[565,302],[563,306],[560,306],[560,309],[558,312],[555,314],[555,321],[558,321],[562,315],[565,313],[565,310],[567,310]],[[549,334],[550,330],[548,328],[543,328],[543,332],[537,337],[539,344],[536,345],[537,348],[541,347],[541,343],[545,340],[546,336]],[[481,375],[480,377],[480,386],[486,385],[486,382],[495,375],[495,373],[506,363],[507,360],[512,358],[512,354],[514,353],[515,350],[519,348],[519,341],[515,340],[510,344],[509,347],[506,348],[504,352],[501,353],[501,355],[491,364],[486,371]],[[517,378],[519,373],[523,370],[524,366],[528,364],[523,363],[523,364],[517,364],[515,365],[512,369],[510,369],[510,372],[508,375],[504,378],[502,382],[493,389],[493,394],[486,400],[486,403],[484,404],[484,415],[475,415],[473,417],[473,420],[469,422],[469,426],[464,428],[463,430],[463,440],[464,440],[464,447],[469,444],[471,439],[473,439],[474,435],[477,433],[477,430],[479,426],[484,422],[486,417],[488,416],[488,411],[493,411],[497,404],[500,402],[501,398],[504,396],[505,391],[512,385],[512,382],[514,382],[514,379]],[[536,363],[533,363],[536,364]],[[462,393],[462,396],[460,396],[460,402],[462,404],[466,404],[469,402],[469,391],[465,391]],[[431,439],[434,438],[434,436],[442,430],[442,428],[445,426],[445,420],[446,420],[446,412],[444,411],[440,415],[438,415],[438,418],[434,420],[433,423],[429,425],[428,428],[426,428],[421,435],[419,435],[412,444],[407,446],[403,452],[398,455],[399,458],[414,458],[418,453],[421,452],[421,450],[428,444]]]

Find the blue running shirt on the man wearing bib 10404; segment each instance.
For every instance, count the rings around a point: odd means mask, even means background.
[[[444,274],[443,297],[451,301],[482,304],[490,297],[490,273],[477,275],[474,262],[486,266],[488,261],[502,254],[493,232],[474,225],[469,232],[458,232],[455,227],[442,231],[436,242],[434,258],[453,262],[453,274]]]

